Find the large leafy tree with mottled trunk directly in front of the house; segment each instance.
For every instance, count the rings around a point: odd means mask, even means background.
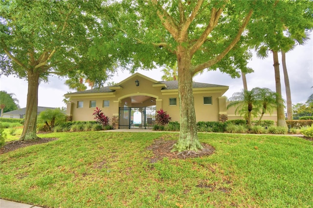
[[[232,77],[239,77],[238,69],[246,64],[240,46],[243,42],[261,42],[260,38],[251,39],[250,33],[253,30],[254,34],[261,34],[264,17],[271,17],[274,3],[124,0],[116,3],[119,7],[112,11],[114,15],[110,15],[117,16],[110,22],[115,28],[115,38],[99,37],[101,45],[97,48],[116,47],[122,56],[130,57],[121,64],[131,71],[178,62],[180,134],[173,151],[197,151],[202,146],[195,118],[194,74],[204,69],[219,69]],[[281,2],[282,9],[287,4]],[[284,19],[283,15],[274,17]],[[267,24],[273,25],[271,21]],[[108,55],[110,52],[98,53],[98,57]]]

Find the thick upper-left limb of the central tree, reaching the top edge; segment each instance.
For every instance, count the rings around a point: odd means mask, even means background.
[[[175,40],[178,39],[179,28],[177,26],[177,22],[157,3],[157,0],[151,1],[153,6],[156,9],[156,14],[160,18],[163,26],[169,33],[173,36]]]

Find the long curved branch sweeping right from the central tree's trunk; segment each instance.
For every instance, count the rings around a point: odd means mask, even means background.
[[[248,15],[246,16],[246,18],[244,19],[244,22],[243,24],[241,25],[241,27],[239,28],[239,31],[236,35],[236,37],[234,38],[234,40],[225,48],[225,50],[219,54],[218,56],[214,57],[213,59],[207,61],[207,62],[204,62],[204,63],[201,63],[197,66],[195,66],[195,70],[194,70],[194,73],[197,73],[205,68],[208,68],[212,65],[214,65],[215,63],[221,61],[225,55],[237,44],[237,42],[240,41],[240,38],[241,38],[241,35],[242,33],[244,32],[245,28],[246,28],[246,25],[248,24],[251,16],[252,16],[252,13],[253,13],[253,10],[250,10]]]

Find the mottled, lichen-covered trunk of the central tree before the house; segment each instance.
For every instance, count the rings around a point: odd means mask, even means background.
[[[180,134],[179,141],[172,151],[202,149],[197,135],[196,112],[192,91],[192,77],[188,55],[178,53],[178,84],[180,107]]]

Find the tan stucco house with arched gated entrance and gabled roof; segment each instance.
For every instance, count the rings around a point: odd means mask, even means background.
[[[193,83],[195,111],[199,121],[227,120],[228,86]],[[149,128],[155,124],[156,111],[167,111],[179,122],[178,81],[156,81],[135,73],[113,86],[65,94],[70,99],[67,115],[72,121],[94,121],[100,108],[109,116],[113,128]]]

